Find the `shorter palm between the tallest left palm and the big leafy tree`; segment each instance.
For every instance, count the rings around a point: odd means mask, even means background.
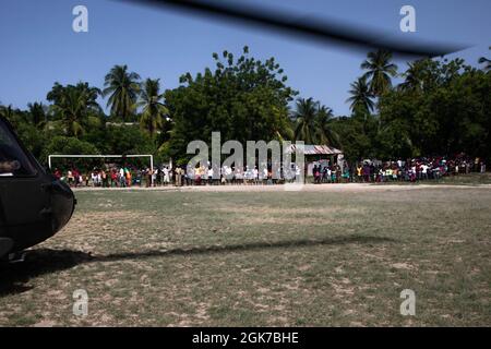
[[[151,136],[154,135],[155,131],[163,128],[164,118],[169,113],[169,110],[161,103],[163,99],[164,94],[160,94],[159,79],[147,79],[143,84],[137,107],[143,107],[140,124],[148,131]]]

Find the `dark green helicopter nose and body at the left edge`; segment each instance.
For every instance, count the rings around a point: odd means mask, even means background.
[[[0,258],[52,237],[74,207],[71,189],[48,173],[0,118]]]

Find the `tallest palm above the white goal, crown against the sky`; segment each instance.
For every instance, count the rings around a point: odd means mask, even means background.
[[[107,106],[111,108],[111,115],[130,120],[135,109],[140,93],[140,75],[128,72],[127,65],[115,65],[105,77],[103,95],[109,96]]]

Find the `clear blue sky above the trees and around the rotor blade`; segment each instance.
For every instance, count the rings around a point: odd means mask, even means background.
[[[479,57],[491,56],[489,0],[248,2],[288,10],[299,19],[328,16],[368,25],[402,40],[468,44],[469,49],[450,58],[463,57],[474,65]],[[77,4],[88,9],[88,33],[72,31],[72,9]],[[399,31],[404,4],[416,9],[417,33]],[[128,64],[143,79],[159,77],[164,88],[172,88],[182,73],[213,67],[213,52],[227,49],[237,56],[248,45],[254,57],[274,56],[302,97],[314,97],[336,115],[346,115],[349,84],[361,74],[364,59],[359,51],[117,0],[0,0],[0,101],[19,108],[45,101],[55,82],[87,81],[103,87],[115,64]],[[403,61],[398,64],[404,67]]]

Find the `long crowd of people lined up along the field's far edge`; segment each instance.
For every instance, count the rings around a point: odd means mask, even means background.
[[[287,172],[288,171],[288,172]],[[438,180],[444,176],[469,172],[486,172],[486,164],[479,158],[465,156],[455,158],[429,157],[408,160],[360,160],[350,166],[347,161],[331,165],[328,160],[313,161],[306,167],[306,180],[312,183],[348,182],[416,182]],[[283,166],[254,166],[237,169],[224,166],[213,168],[201,166],[192,170],[185,167],[163,165],[154,169],[132,166],[107,166],[82,172],[72,167],[64,172],[55,169],[53,174],[70,186],[130,188],[161,185],[267,185],[291,182],[300,174],[296,166],[284,169]]]

